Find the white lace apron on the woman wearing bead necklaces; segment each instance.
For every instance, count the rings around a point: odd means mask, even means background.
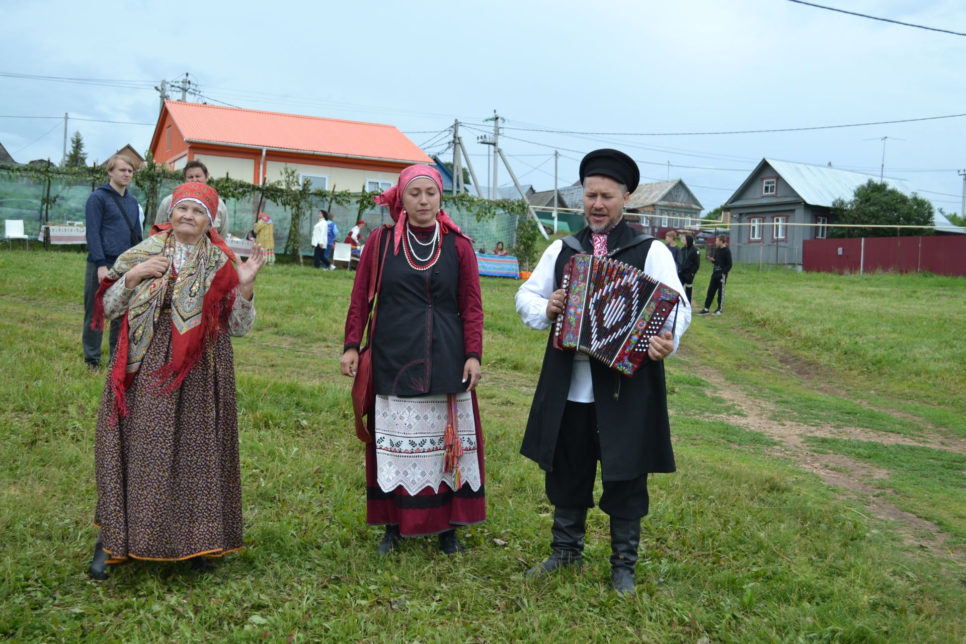
[[[476,454],[476,425],[469,392],[455,394],[457,434],[463,442],[460,471],[464,484],[480,489],[479,459]],[[445,483],[453,489],[453,472],[443,472],[445,454],[446,395],[400,398],[376,397],[376,462],[379,487],[383,491],[402,486],[414,495]]]

